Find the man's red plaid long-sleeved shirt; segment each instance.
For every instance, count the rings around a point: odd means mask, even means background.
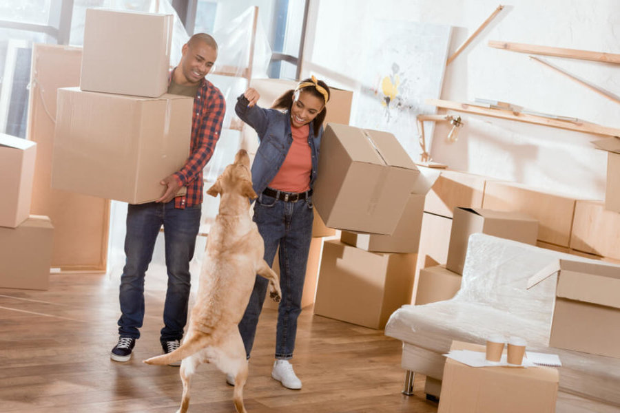
[[[179,184],[187,187],[187,193],[174,198],[175,208],[185,209],[203,202],[203,168],[211,159],[220,138],[225,112],[226,102],[222,92],[203,78],[194,98],[189,158],[183,168],[174,173]]]

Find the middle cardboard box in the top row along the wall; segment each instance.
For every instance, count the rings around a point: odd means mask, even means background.
[[[487,181],[482,208],[526,213],[539,222],[538,240],[568,246],[575,198],[513,182]]]

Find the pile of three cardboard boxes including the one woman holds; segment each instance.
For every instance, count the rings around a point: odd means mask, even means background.
[[[352,245],[324,242],[315,314],[383,328],[411,302],[424,194],[432,184],[393,135],[327,125],[313,200],[324,222]]]

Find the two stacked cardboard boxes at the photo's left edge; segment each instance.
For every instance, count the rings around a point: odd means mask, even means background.
[[[48,288],[54,227],[30,215],[36,157],[35,142],[0,134],[1,288]]]

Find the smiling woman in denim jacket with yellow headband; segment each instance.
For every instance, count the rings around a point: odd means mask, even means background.
[[[265,242],[265,261],[273,264],[280,248],[280,286],[276,361],[271,377],[289,389],[302,383],[293,371],[297,318],[312,237],[312,187],[316,180],[322,123],[327,114],[329,87],[314,76],[299,83],[273,103],[271,109],[256,106],[259,98],[249,88],[239,96],[235,112],[258,133],[260,145],[252,164],[252,183],[258,199],[254,222]],[[239,331],[249,358],[258,316],[267,292],[267,280],[256,277]],[[227,378],[229,383],[231,377]]]

